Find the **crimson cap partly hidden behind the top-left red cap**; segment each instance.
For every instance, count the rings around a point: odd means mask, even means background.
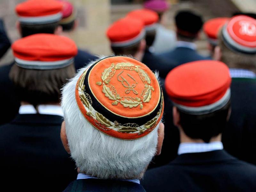
[[[58,0],[63,4],[62,8],[62,19],[60,20],[60,24],[67,24],[76,19],[76,11],[74,6],[66,0]]]

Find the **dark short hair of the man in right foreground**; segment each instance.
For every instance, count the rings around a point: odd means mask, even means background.
[[[223,132],[230,104],[229,100],[223,108],[205,115],[190,115],[178,109],[182,130],[192,139],[202,139],[209,143],[212,137]]]

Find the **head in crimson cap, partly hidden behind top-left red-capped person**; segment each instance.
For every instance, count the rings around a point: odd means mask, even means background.
[[[59,24],[61,25],[63,32],[74,31],[78,25],[78,21],[76,20],[77,12],[70,2],[66,0],[59,1],[63,4],[62,19]]]

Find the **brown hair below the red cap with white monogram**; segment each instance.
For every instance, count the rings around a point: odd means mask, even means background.
[[[241,52],[235,52],[225,45],[222,37],[219,38],[219,46],[221,61],[226,63],[229,68],[256,69],[256,54],[247,55]]]

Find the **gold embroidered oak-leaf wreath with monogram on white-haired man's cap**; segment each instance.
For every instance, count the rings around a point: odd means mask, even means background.
[[[142,80],[142,82],[144,84],[144,88],[145,88],[141,91],[139,97],[134,98],[134,97],[130,97],[130,96],[120,96],[120,94],[117,93],[117,90],[114,87],[114,85],[110,84],[111,78],[116,74],[116,71],[120,70],[120,69],[135,71],[136,73],[138,73],[138,75],[140,76],[140,79]],[[121,73],[119,73],[118,76],[120,74],[122,74],[122,72],[123,71],[121,71]],[[129,76],[129,74],[128,74],[128,76]],[[116,65],[114,63],[112,63],[110,67],[105,68],[104,71],[102,72],[101,80],[102,81],[96,82],[96,84],[99,86],[103,85],[102,92],[105,94],[105,96],[109,100],[113,101],[112,105],[117,105],[118,103],[121,103],[125,108],[126,107],[135,108],[140,105],[140,109],[142,109],[143,103],[147,103],[150,101],[151,91],[154,91],[154,88],[152,86],[150,86],[151,79],[148,76],[148,74],[143,69],[141,69],[139,65],[134,66],[131,63],[122,62],[122,63],[117,63]],[[128,87],[128,89],[126,90],[125,93],[128,94],[130,91],[133,91],[135,94],[138,94],[133,89],[134,87],[135,86]]]

